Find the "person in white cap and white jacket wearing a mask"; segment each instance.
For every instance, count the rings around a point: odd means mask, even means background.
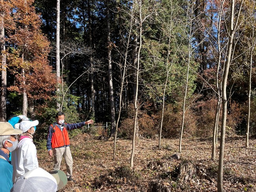
[[[12,152],[11,164],[13,165],[13,183],[26,172],[38,168],[37,150],[33,144],[33,134],[38,120],[24,120],[20,122],[19,129],[22,134],[19,138],[19,144]],[[19,159],[19,161],[17,161]]]

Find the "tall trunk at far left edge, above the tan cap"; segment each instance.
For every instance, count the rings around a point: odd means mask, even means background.
[[[1,0],[1,3],[4,3],[4,0]],[[4,13],[0,13],[2,18]],[[4,21],[0,20],[0,46],[1,46],[1,109],[0,109],[0,121],[6,122],[6,85],[7,85],[7,76],[6,76],[6,51],[5,41],[4,41]]]

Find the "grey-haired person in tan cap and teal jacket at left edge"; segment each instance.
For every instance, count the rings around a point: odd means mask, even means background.
[[[9,153],[18,145],[17,137],[22,131],[13,129],[8,122],[0,122],[0,191],[9,192],[13,188],[13,166]],[[17,160],[18,161],[18,160]]]

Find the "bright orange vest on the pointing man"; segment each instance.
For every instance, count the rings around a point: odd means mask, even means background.
[[[53,127],[53,125],[51,126]],[[52,148],[59,148],[67,145],[70,145],[70,142],[66,126],[64,126],[63,131],[61,131],[56,125],[55,127],[53,127]]]

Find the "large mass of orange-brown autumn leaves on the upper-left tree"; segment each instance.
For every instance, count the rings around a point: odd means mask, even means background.
[[[2,9],[7,31],[7,70],[16,83],[9,91],[26,92],[28,99],[49,99],[56,87],[56,76],[49,65],[50,42],[41,32],[41,18],[33,0],[10,0]],[[9,7],[7,7],[9,6]],[[22,74],[22,70],[24,73]]]

